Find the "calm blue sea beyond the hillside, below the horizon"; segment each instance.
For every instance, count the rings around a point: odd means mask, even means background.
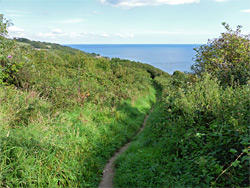
[[[199,44],[72,44],[67,45],[103,57],[150,64],[169,74],[189,72]]]

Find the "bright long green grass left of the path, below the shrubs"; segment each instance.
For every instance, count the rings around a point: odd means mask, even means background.
[[[87,103],[52,114],[38,94],[7,87],[0,94],[0,185],[9,187],[97,186],[107,160],[135,135],[155,101],[151,87],[113,112]]]

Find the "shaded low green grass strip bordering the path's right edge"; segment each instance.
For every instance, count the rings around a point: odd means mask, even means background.
[[[156,169],[162,168],[159,163],[161,152],[157,146],[154,128],[151,126],[161,114],[161,104],[154,104],[147,126],[135,138],[129,148],[116,160],[115,187],[156,187],[155,179],[159,178]]]

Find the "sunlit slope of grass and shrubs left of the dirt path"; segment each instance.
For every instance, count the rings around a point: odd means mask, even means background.
[[[22,54],[18,88],[0,87],[0,186],[97,186],[154,103],[158,70],[68,48]]]

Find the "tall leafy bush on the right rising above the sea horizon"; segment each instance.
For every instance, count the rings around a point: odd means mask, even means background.
[[[233,31],[228,24],[222,25],[226,32],[219,38],[195,48],[191,69],[199,76],[209,72],[225,86],[245,85],[250,80],[250,35],[241,34],[241,26]]]

